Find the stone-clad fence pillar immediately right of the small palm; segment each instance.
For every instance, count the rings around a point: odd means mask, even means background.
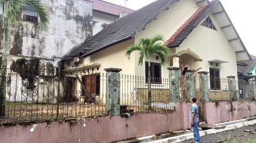
[[[179,67],[168,67],[169,70],[169,89],[171,102],[180,102],[180,73]]]

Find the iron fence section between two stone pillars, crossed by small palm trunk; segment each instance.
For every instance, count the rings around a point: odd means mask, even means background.
[[[121,110],[131,110],[133,112],[163,112],[174,111],[175,102],[171,101],[172,85],[168,79],[152,78],[147,83],[147,78],[142,76],[121,75]],[[148,102],[148,90],[151,90],[151,102]],[[148,110],[148,104],[152,109]],[[127,108],[127,109],[126,109]]]

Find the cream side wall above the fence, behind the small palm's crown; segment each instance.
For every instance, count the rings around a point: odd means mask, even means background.
[[[182,10],[180,9],[182,7]],[[157,19],[152,21],[146,26],[146,28],[139,32],[135,36],[135,44],[138,43],[139,38],[141,37],[152,37],[155,34],[163,34],[165,40],[168,40],[174,34],[180,25],[184,24],[185,21],[189,19],[191,15],[199,8],[194,1],[181,0],[177,1],[171,7],[164,11],[158,16]],[[138,61],[138,53],[135,56],[135,61]],[[171,54],[175,54],[175,49],[171,49]],[[155,56],[151,58],[152,62],[160,63],[160,60],[155,61]],[[167,67],[170,67],[170,59],[167,63],[162,66],[163,77],[168,77]],[[138,66],[138,63],[135,64],[135,75],[145,75],[144,66]]]

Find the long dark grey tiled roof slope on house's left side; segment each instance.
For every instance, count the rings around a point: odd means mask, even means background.
[[[109,24],[89,40],[74,47],[63,60],[73,57],[84,58],[97,51],[133,38],[148,23],[167,10],[177,0],[158,0]]]

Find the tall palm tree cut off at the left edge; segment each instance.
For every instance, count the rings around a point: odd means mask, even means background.
[[[2,41],[2,65],[0,73],[0,118],[5,117],[5,93],[6,93],[6,66],[7,66],[7,38],[9,24],[16,24],[20,21],[23,5],[28,5],[38,12],[39,21],[36,31],[40,32],[48,28],[49,12],[39,0],[0,0],[4,4],[3,12],[3,41]]]

